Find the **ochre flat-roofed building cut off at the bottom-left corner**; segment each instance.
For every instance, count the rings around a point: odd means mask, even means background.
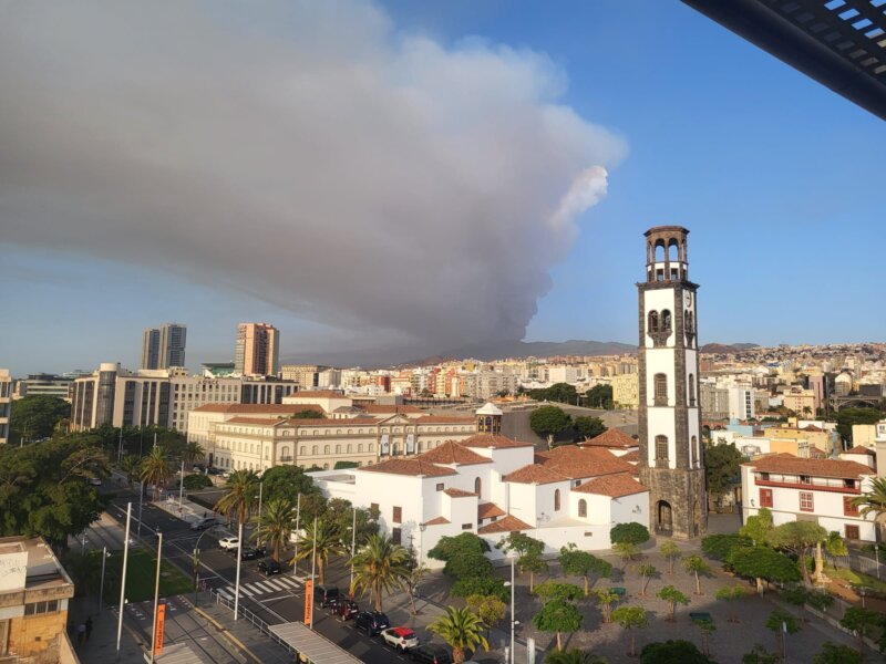
[[[0,661],[76,662],[66,632],[73,596],[42,538],[0,538]]]

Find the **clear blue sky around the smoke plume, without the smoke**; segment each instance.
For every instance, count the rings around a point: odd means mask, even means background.
[[[546,54],[568,82],[558,101],[628,146],[550,270],[527,340],[633,343],[642,232],[679,224],[702,287],[702,343],[883,341],[879,120],[677,1],[381,6],[396,31],[444,46],[480,38]],[[193,366],[233,356],[246,320],[280,328],[284,355],[338,339],[328,320],[224,277],[196,284],[186,267],[2,242],[0,366],[16,375],[134,366],[142,329],[164,321],[188,325]]]

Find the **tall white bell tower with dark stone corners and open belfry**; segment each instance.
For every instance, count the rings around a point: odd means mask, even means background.
[[[649,487],[650,526],[676,538],[708,528],[701,444],[696,293],[681,226],[646,231],[639,290],[640,481]]]

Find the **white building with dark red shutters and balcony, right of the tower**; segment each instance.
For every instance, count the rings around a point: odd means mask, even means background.
[[[852,505],[874,477],[870,467],[851,460],[764,456],[742,464],[743,517],[765,507],[775,526],[813,521],[848,540],[876,541],[873,515],[863,517]]]

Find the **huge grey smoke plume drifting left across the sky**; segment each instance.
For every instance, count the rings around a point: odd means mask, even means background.
[[[627,149],[565,85],[544,54],[356,0],[7,2],[0,250],[429,350],[521,339]]]

